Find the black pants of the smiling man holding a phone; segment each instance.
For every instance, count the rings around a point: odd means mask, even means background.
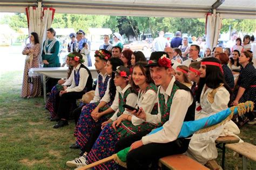
[[[140,140],[148,132],[136,133],[120,140],[116,145],[116,151],[130,146],[134,141]],[[160,158],[186,152],[189,143],[190,139],[179,138],[170,143],[150,143],[140,146],[127,154],[127,169],[157,169]],[[149,168],[150,164],[152,165],[151,168]]]

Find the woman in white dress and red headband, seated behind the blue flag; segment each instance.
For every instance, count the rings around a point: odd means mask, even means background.
[[[204,58],[201,60],[199,72],[196,120],[214,115],[226,109],[231,103],[231,89],[225,82],[221,63],[218,59]],[[193,134],[186,154],[201,164],[206,164],[208,160],[218,157],[215,140],[219,136],[235,136],[239,133],[237,125],[229,121],[210,132]]]

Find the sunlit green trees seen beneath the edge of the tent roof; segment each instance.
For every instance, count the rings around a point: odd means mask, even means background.
[[[0,24],[9,26],[18,31],[21,27],[27,27],[24,13],[15,13],[13,16],[5,16]],[[191,34],[191,36],[203,36],[205,34],[205,19],[201,18],[164,18],[164,17],[130,17],[130,16],[95,16],[56,13],[52,23],[53,28],[73,28],[75,31],[82,29],[85,32],[90,27],[110,28],[113,32],[130,35],[138,38],[139,34],[152,33],[158,37],[158,32],[176,32]],[[223,19],[221,33],[231,29],[244,33],[256,31],[255,19]]]

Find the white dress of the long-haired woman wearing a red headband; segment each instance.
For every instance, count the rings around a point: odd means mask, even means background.
[[[200,104],[197,103],[197,107],[200,105],[202,109],[200,111],[196,111],[196,120],[214,115],[221,110],[227,109],[227,104],[230,101],[230,93],[228,93],[225,87],[220,87],[214,95],[213,103],[210,103],[207,96],[213,89],[208,88],[205,90],[205,88],[206,86],[204,86],[200,96]],[[205,93],[203,93],[204,91]],[[226,129],[225,133],[230,134],[231,136],[234,136],[234,133],[240,132],[237,125],[235,125],[234,122],[229,121],[225,125],[222,125],[210,132],[193,134],[186,154],[201,164],[205,164],[208,160],[217,158],[218,152],[215,147],[215,140],[220,136],[224,128]]]

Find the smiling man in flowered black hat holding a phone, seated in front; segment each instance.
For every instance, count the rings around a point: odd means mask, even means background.
[[[133,134],[117,144],[122,149],[122,143],[125,148],[127,143],[138,140],[132,143],[127,154],[127,169],[149,169],[150,164],[157,166],[159,158],[186,152],[190,142],[190,138],[178,138],[183,122],[194,120],[196,104],[190,89],[171,75],[171,61],[165,52],[153,52],[147,67],[150,67],[154,83],[159,86],[158,114],[145,113],[142,108],[133,114],[145,122],[163,125],[163,128],[147,136],[149,131]]]

